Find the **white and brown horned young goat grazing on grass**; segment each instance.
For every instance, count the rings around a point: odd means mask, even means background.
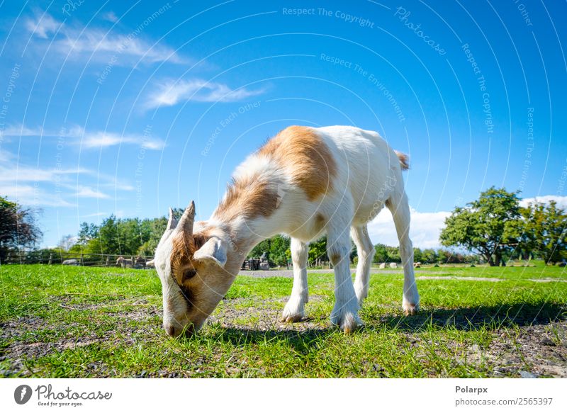
[[[408,236],[410,208],[402,170],[408,159],[377,132],[350,126],[291,126],[237,167],[224,198],[208,220],[194,222],[191,202],[178,220],[169,209],[167,230],[155,252],[162,282],[164,329],[191,334],[227,293],[251,249],[263,239],[291,237],[293,288],[282,320],[297,322],[308,301],[308,243],[327,235],[335,270],[331,322],[345,333],[361,325],[359,308],[369,288],[374,256],[366,224],[384,205],[391,210],[404,268],[402,307],[419,308]],[[350,237],[359,261],[354,285]]]

